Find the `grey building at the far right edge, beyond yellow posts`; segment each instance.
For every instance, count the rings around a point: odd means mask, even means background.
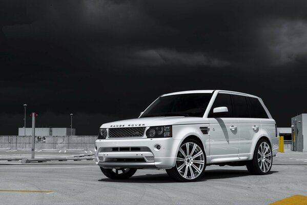
[[[291,118],[292,150],[307,152],[307,114]]]

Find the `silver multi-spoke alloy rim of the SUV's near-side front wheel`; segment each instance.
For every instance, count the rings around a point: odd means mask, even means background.
[[[193,142],[181,145],[177,154],[176,168],[183,178],[197,178],[204,168],[204,154],[201,148]]]

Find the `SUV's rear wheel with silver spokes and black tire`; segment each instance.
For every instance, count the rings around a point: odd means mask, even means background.
[[[270,142],[261,139],[257,142],[253,159],[246,165],[248,171],[255,175],[269,174],[273,163],[272,148]]]

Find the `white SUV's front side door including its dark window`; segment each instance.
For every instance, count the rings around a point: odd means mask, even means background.
[[[214,114],[213,109],[216,107],[227,107],[228,113]],[[217,94],[208,119],[210,121],[211,162],[238,160],[239,121],[233,118],[230,94]]]

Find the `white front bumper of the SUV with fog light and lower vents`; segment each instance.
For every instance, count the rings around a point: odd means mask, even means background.
[[[95,145],[95,161],[103,168],[169,169],[175,166],[180,140],[97,139]]]

